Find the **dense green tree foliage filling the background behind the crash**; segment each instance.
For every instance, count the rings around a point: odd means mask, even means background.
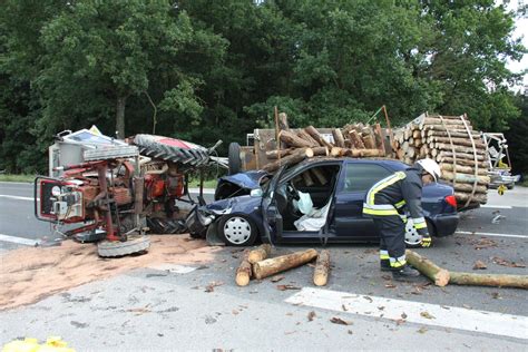
[[[225,154],[273,126],[274,106],[294,127],[385,105],[395,126],[436,111],[522,130],[505,66],[526,52],[514,17],[492,0],[4,0],[0,169],[43,170],[62,129],[133,135],[154,118],[157,134],[223,139]]]

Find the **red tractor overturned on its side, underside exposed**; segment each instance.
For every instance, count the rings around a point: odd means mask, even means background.
[[[49,149],[50,176],[35,179],[35,215],[62,237],[97,242],[104,257],[145,252],[147,232],[185,232],[176,202],[195,203],[189,174],[217,164],[211,154],[221,143],[206,149],[153,135],[120,141],[98,130],[61,133]]]

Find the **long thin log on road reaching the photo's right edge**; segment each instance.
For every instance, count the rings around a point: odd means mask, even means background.
[[[528,275],[473,274],[450,272],[450,284],[528,289]]]

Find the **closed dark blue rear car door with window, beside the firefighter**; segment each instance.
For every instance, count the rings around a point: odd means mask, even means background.
[[[335,196],[333,226],[338,236],[354,239],[377,237],[372,219],[363,216],[363,199],[378,180],[392,172],[373,162],[346,162]]]

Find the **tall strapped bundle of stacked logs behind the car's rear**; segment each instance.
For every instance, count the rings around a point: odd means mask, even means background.
[[[393,150],[410,165],[426,157],[437,160],[442,179],[454,188],[459,208],[486,204],[490,182],[487,148],[466,115],[423,114],[394,130]]]

